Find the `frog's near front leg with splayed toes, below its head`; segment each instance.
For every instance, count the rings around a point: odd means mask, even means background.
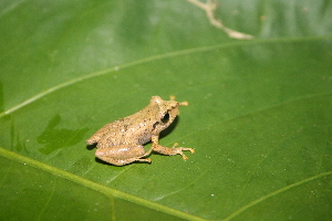
[[[184,159],[188,159],[188,157],[186,157],[186,155],[183,152],[183,150],[189,150],[191,154],[195,152],[195,149],[191,149],[191,148],[185,148],[185,147],[175,148],[178,145],[177,143],[175,143],[172,148],[164,147],[164,146],[158,144],[159,143],[159,136],[158,135],[154,135],[152,137],[152,143],[153,143],[152,149],[154,151],[157,151],[157,152],[163,154],[163,155],[170,155],[170,156],[172,155],[180,155],[180,156],[183,156]]]

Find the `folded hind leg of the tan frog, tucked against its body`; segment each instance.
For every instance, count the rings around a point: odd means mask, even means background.
[[[145,152],[145,149],[141,145],[116,145],[112,147],[97,147],[95,150],[95,156],[103,161],[110,162],[116,166],[123,166],[131,164],[133,161],[147,161],[151,162],[151,159],[141,159],[148,156],[152,152],[152,149]]]

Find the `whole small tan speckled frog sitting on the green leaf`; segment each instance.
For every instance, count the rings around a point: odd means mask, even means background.
[[[115,166],[124,166],[134,161],[152,162],[149,156],[153,151],[162,155],[180,155],[183,159],[188,157],[185,150],[195,152],[193,148],[172,148],[159,145],[159,134],[166,129],[179,114],[179,106],[188,106],[188,102],[164,101],[159,96],[152,96],[149,104],[139,112],[115,122],[106,124],[98,129],[86,145],[95,145],[95,157]],[[144,145],[152,143],[146,151]]]

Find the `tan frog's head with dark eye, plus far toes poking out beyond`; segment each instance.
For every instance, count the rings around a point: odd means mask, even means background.
[[[164,101],[159,96],[153,96],[151,98],[151,104],[158,109],[156,113],[157,120],[154,124],[155,131],[159,133],[167,128],[175,119],[175,117],[179,114],[179,106],[188,106],[188,102],[176,102],[175,97],[170,97],[170,101]]]

